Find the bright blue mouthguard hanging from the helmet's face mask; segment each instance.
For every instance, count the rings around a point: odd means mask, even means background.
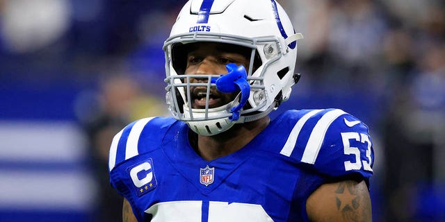
[[[238,105],[230,110],[232,116],[230,121],[237,121],[240,117],[241,108],[247,103],[250,96],[250,85],[248,83],[248,74],[243,65],[237,66],[234,63],[227,64],[228,71],[225,75],[220,75],[219,78],[212,78],[211,83],[216,83],[216,88],[220,92],[231,93],[240,91],[236,99],[241,95]]]

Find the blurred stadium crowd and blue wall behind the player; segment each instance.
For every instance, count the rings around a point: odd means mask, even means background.
[[[374,221],[445,221],[445,2],[277,1],[305,39],[298,42],[300,83],[273,117],[286,109],[341,108],[362,119],[375,148]],[[16,130],[13,138],[28,144],[14,147],[12,137],[0,135],[0,153],[9,153],[0,154],[0,221],[25,221],[24,212],[41,221],[52,214],[121,221],[122,198],[108,185],[108,147],[127,123],[167,115],[162,46],[184,3],[0,0],[0,134],[16,122],[63,122],[85,141],[72,165],[39,159],[35,169],[22,153],[44,152],[46,144]],[[84,207],[65,207],[67,214],[20,207],[14,196],[22,187],[1,175],[44,175],[60,166],[86,172],[92,184],[80,189],[86,198],[73,199]],[[64,198],[48,194],[39,200]],[[33,195],[22,196],[32,208]]]

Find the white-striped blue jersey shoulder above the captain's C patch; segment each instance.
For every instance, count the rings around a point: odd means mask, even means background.
[[[149,117],[133,121],[113,137],[108,160],[108,170],[139,153],[159,147],[164,132],[175,119],[170,117]]]

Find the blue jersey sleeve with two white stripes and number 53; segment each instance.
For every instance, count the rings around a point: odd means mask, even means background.
[[[297,129],[297,130],[296,130]],[[295,135],[297,134],[297,135]],[[338,109],[312,110],[301,117],[282,154],[329,178],[362,178],[373,173],[373,144],[368,127]],[[291,152],[289,152],[291,151]]]

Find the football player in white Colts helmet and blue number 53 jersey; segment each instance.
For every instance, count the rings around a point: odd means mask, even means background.
[[[301,38],[274,0],[185,4],[163,46],[172,117],[111,144],[124,221],[371,221],[367,126],[338,109],[268,117]]]

